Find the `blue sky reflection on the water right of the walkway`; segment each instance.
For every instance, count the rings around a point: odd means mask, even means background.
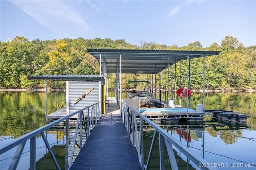
[[[255,131],[252,131],[246,123],[233,123],[210,116],[207,118],[202,122],[161,123],[159,126],[192,150],[195,153],[194,156],[203,157],[212,163],[213,167],[221,164],[225,166],[218,166],[218,168],[225,169],[227,168],[226,165],[240,164],[245,167],[248,164],[255,164]],[[149,125],[145,125],[143,130],[146,157],[150,149],[154,129]],[[241,145],[241,142],[244,142],[244,144]],[[156,140],[152,165],[150,165],[149,169],[160,168],[158,166],[158,147],[158,140]],[[178,148],[173,148],[179,169],[196,168],[196,165],[182,154]],[[146,161],[146,158],[144,161]],[[169,158],[166,148],[164,158],[167,161],[165,168],[171,169],[170,164],[168,164]],[[236,169],[241,167],[233,166],[229,168]]]

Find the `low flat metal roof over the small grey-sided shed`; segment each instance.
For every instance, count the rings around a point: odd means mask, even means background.
[[[28,76],[28,79],[59,81],[103,81],[104,77],[100,75],[34,75]]]

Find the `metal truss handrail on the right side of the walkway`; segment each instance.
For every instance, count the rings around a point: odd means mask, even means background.
[[[171,134],[166,132],[163,128],[159,127],[150,119],[146,118],[144,115],[136,111],[133,107],[130,107],[124,102],[121,102],[121,117],[123,122],[125,123],[126,130],[130,137],[132,137],[132,144],[135,147],[138,159],[141,166],[148,170],[148,166],[150,163],[150,159],[152,156],[153,147],[156,141],[157,135],[159,135],[159,155],[160,155],[160,169],[164,169],[164,144],[166,145],[170,166],[172,170],[178,170],[178,165],[176,162],[176,158],[174,156],[174,151],[172,146],[175,146],[180,152],[182,152],[187,158],[189,158],[194,164],[197,166],[198,169],[203,170],[215,170],[216,168],[211,167],[210,163],[207,162],[205,159],[194,156],[196,155],[192,150],[189,150],[184,144],[174,138]],[[154,135],[152,138],[150,151],[148,153],[148,158],[146,164],[144,163],[144,142],[143,142],[143,122],[146,122],[152,128],[154,128]],[[140,126],[140,134],[138,130],[138,126]]]

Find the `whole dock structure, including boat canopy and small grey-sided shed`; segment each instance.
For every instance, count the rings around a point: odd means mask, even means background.
[[[176,91],[176,75],[173,70],[171,71],[171,75],[169,75],[169,67],[173,66],[176,68],[176,63],[182,60],[187,60],[187,84],[186,87],[189,89],[190,87],[190,59],[195,59],[199,57],[203,57],[203,68],[202,74],[203,76],[203,92],[202,92],[202,110],[204,110],[204,58],[206,56],[210,55],[218,55],[220,54],[220,51],[174,51],[174,50],[127,50],[127,49],[88,49],[88,52],[92,54],[96,59],[98,59],[98,62],[100,63],[100,75],[42,75],[42,76],[30,76],[28,79],[45,79],[45,80],[54,80],[54,81],[67,81],[67,111],[66,114],[69,114],[75,110],[78,110],[80,108],[80,105],[83,105],[83,102],[85,100],[81,100],[78,104],[74,105],[72,102],[82,95],[82,93],[91,87],[94,87],[94,90],[86,97],[89,100],[86,100],[87,103],[84,103],[86,105],[92,104],[97,102],[104,102],[106,99],[108,99],[108,73],[116,73],[116,93],[115,98],[117,102],[117,105],[120,105],[121,102],[121,79],[122,73],[140,73],[144,74],[145,80],[142,81],[148,81],[149,79],[146,79],[146,77],[150,77],[149,82],[152,84],[150,86],[150,91],[154,94],[154,105],[157,107],[165,107],[170,108],[172,105],[169,104],[167,101],[162,101],[161,96],[160,99],[156,98],[156,91],[159,91],[161,94],[161,84],[156,84],[156,74],[160,73],[160,79],[161,72],[165,72],[167,70],[168,76],[164,77],[164,79],[167,80],[168,85],[165,89],[167,89],[167,99],[171,98],[174,101],[174,108],[176,108],[178,105],[175,103],[176,101],[176,93],[174,93],[174,96],[170,96],[169,94],[172,91]],[[181,62],[180,62],[181,63]],[[181,67],[181,65],[180,65]],[[146,76],[147,75],[147,76]],[[149,75],[149,76],[148,76]],[[165,76],[166,74],[164,74]],[[130,80],[133,81],[133,80]],[[74,82],[74,83],[73,83]],[[169,85],[170,82],[170,85]],[[91,83],[91,85],[90,85]],[[88,85],[89,84],[89,85]],[[105,84],[105,86],[102,86],[102,84]],[[181,85],[180,85],[181,86]],[[81,89],[81,87],[84,87],[84,89]],[[184,85],[183,85],[184,87]],[[158,88],[158,89],[157,89]],[[47,91],[47,81],[46,81],[46,91]],[[104,97],[102,97],[102,94],[104,93]],[[47,94],[47,93],[46,93]],[[178,97],[178,96],[177,96]],[[193,96],[192,96],[193,97]],[[185,106],[190,108],[190,97],[186,98],[187,102],[185,102]],[[88,103],[89,101],[89,103]],[[199,104],[199,103],[198,103]],[[46,95],[46,105],[47,105],[47,95]],[[83,105],[84,106],[84,105]],[[161,110],[161,108],[158,108]],[[171,108],[170,108],[171,109]],[[187,117],[190,118],[189,114],[194,114],[191,111],[188,111],[188,109],[185,109],[184,111],[167,111],[162,109],[162,111],[165,111],[168,116],[173,115],[175,119],[171,119],[172,121],[176,120],[176,115],[180,115],[180,118]],[[46,121],[48,118],[59,118],[61,115],[64,115],[65,111],[60,110],[56,111],[53,114],[48,115],[46,114]],[[152,114],[159,114],[157,116],[165,116],[163,115],[163,112],[156,112],[154,110],[150,111]],[[47,110],[46,110],[47,113]],[[102,111],[104,113],[104,111]],[[147,113],[147,114],[151,114]],[[146,114],[146,113],[145,113]],[[183,116],[184,115],[184,116]],[[197,115],[198,117],[202,116],[202,112]],[[163,117],[163,119],[166,119],[166,117]],[[191,120],[193,120],[192,118]],[[196,120],[196,119],[194,119]],[[168,119],[166,119],[168,121]]]

